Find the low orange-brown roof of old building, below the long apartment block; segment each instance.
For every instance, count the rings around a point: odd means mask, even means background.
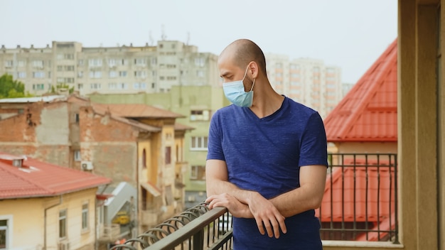
[[[176,114],[166,109],[159,109],[146,104],[98,104],[92,103],[96,109],[109,111],[110,113],[127,118],[181,118],[182,114]]]

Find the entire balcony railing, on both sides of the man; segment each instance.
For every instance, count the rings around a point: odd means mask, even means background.
[[[321,207],[322,240],[399,243],[397,154],[329,154]],[[205,204],[129,239],[112,249],[232,249],[230,214]]]

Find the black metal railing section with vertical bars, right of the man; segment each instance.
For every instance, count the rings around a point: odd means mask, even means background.
[[[321,239],[392,241],[397,225],[397,154],[330,153]]]

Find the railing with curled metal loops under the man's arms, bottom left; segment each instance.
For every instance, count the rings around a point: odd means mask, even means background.
[[[232,220],[225,207],[208,210],[201,203],[114,249],[232,249]]]

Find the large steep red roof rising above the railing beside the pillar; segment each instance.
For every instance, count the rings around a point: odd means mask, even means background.
[[[397,141],[397,39],[324,120],[328,141]]]

